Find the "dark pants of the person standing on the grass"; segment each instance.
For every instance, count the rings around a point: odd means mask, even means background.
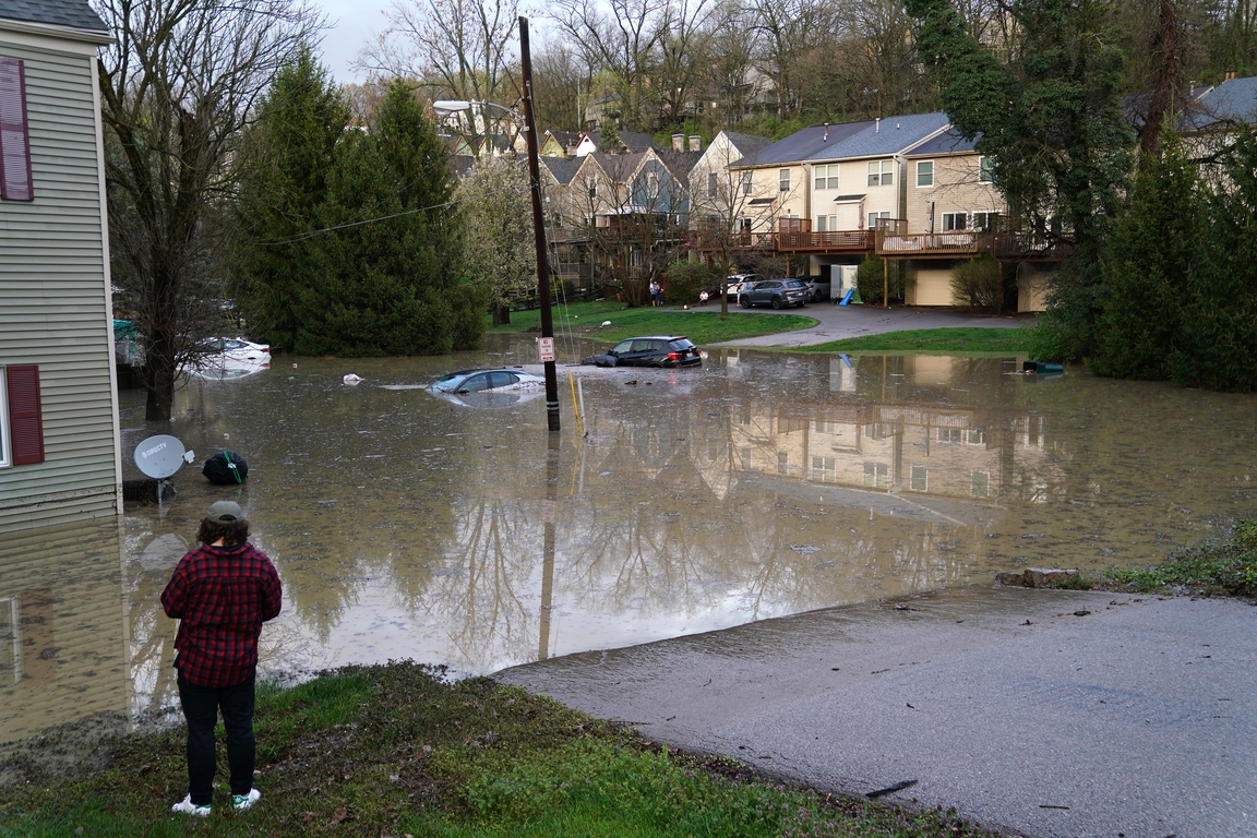
[[[209,805],[214,798],[214,726],[222,711],[228,730],[228,764],[231,794],[249,794],[258,750],[253,737],[254,676],[234,687],[199,687],[178,676],[178,702],[187,719],[187,792],[194,805]]]

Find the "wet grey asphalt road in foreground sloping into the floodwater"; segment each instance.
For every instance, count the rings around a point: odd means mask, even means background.
[[[1023,835],[1251,838],[1254,663],[1242,602],[965,589],[495,677],[823,790],[914,780],[882,799]]]

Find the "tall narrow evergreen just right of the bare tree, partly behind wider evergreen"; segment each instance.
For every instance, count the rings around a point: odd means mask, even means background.
[[[295,302],[310,270],[318,207],[349,111],[308,46],[275,77],[245,133],[234,294],[250,333],[278,349],[297,340]]]

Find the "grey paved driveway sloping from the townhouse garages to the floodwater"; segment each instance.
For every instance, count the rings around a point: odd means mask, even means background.
[[[720,310],[719,304],[711,303],[701,307],[691,307],[691,312]],[[772,309],[742,309],[737,305],[729,307],[730,313],[744,317],[755,317]],[[804,314],[818,320],[818,324],[810,329],[797,332],[782,332],[778,334],[766,334],[758,338],[745,338],[742,340],[729,340],[709,346],[718,347],[806,347],[813,343],[827,343],[843,338],[857,338],[864,334],[881,334],[884,332],[904,332],[908,329],[941,329],[941,328],[985,328],[985,329],[1017,329],[1022,324],[1035,323],[1033,315],[1017,317],[974,317],[955,309],[945,308],[876,308],[874,305],[836,305],[830,302],[813,303],[802,309],[786,309],[784,314]]]

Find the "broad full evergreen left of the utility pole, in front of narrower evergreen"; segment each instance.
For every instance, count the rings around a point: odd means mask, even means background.
[[[459,273],[449,153],[406,82],[376,126],[337,146],[312,269],[298,294],[300,354],[441,354],[479,344],[485,295]],[[366,224],[362,220],[367,219]]]

